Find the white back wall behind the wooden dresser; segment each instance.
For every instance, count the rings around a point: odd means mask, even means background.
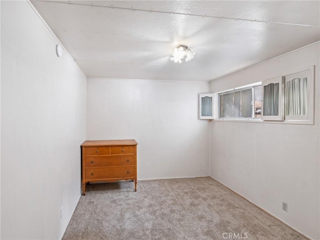
[[[138,179],[209,175],[207,82],[87,79],[86,136],[135,139]]]

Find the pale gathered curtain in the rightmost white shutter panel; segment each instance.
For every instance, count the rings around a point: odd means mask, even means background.
[[[306,115],[307,79],[294,78],[285,83],[285,114]]]

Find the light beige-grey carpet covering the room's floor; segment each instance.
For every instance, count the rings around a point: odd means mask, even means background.
[[[307,239],[210,177],[133,188],[130,181],[87,185],[62,239]]]

